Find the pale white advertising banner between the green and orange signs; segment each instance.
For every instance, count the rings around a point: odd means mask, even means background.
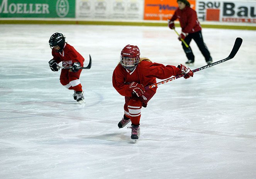
[[[76,17],[83,19],[142,20],[142,0],[77,0]]]

